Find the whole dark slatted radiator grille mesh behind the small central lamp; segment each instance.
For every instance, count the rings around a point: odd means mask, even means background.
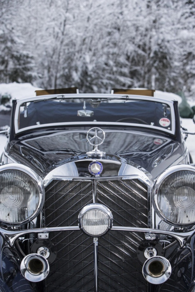
[[[116,226],[148,227],[148,190],[139,180],[96,180],[96,201],[108,206]],[[45,226],[76,226],[93,203],[94,180],[53,181],[46,191]],[[81,231],[50,233],[58,256],[50,265],[46,292],[94,292],[94,243]],[[137,259],[141,233],[110,231],[98,239],[99,292],[146,292]]]

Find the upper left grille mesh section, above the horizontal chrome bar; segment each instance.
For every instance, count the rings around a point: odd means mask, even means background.
[[[46,189],[46,227],[77,225],[78,213],[92,202],[92,182],[53,181]]]

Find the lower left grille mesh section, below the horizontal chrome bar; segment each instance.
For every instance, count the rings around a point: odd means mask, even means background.
[[[51,233],[50,238],[52,242],[56,242],[58,255],[50,265],[50,274],[46,279],[46,291],[84,292],[93,288],[94,248],[92,239],[78,231]]]

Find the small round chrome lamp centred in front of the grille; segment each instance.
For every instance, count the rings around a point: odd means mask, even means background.
[[[105,234],[112,227],[112,214],[101,204],[85,206],[79,216],[79,226],[89,236],[98,237]]]

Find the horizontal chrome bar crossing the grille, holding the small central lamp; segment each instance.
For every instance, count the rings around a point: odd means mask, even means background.
[[[0,234],[7,240],[10,246],[13,246],[15,240],[23,235],[30,233],[48,233],[48,232],[61,232],[61,231],[75,231],[80,230],[78,226],[68,226],[68,227],[49,227],[49,228],[35,228],[35,229],[25,229],[22,231],[11,231],[6,230],[5,228],[0,228]],[[137,228],[137,227],[122,227],[122,226],[113,226],[111,230],[116,231],[129,231],[129,232],[143,232],[143,233],[154,233],[154,234],[163,234],[169,235],[176,238],[180,247],[183,247],[186,244],[186,241],[195,235],[195,230],[190,230],[188,232],[174,232],[168,230],[152,229],[152,228]]]

